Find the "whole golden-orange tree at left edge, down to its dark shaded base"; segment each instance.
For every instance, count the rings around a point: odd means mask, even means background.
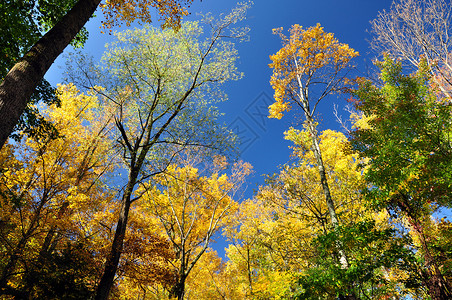
[[[93,255],[86,224],[112,199],[100,180],[113,168],[108,119],[93,96],[79,95],[73,85],[60,86],[58,95],[61,107],[48,107],[44,116],[59,136],[23,135],[1,151],[3,295],[89,297],[99,276],[100,257]]]

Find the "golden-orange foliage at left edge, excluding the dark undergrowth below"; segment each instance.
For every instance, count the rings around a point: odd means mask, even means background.
[[[0,152],[0,166],[5,170],[0,180],[0,220],[11,226],[11,230],[0,230],[0,235],[6,235],[2,238],[10,241],[1,255],[12,261],[9,254],[17,251],[21,257],[12,274],[22,274],[24,268],[36,264],[40,253],[48,250],[46,239],[53,251],[79,242],[86,251],[95,249],[96,256],[77,254],[81,255],[77,259],[86,259],[93,268],[102,263],[100,254],[108,245],[96,218],[96,214],[114,211],[113,193],[100,180],[115,166],[105,139],[108,115],[99,110],[95,97],[80,93],[72,84],[59,85],[57,96],[61,107],[41,110],[58,137],[35,140],[23,136],[21,142],[6,145]],[[96,276],[91,275],[91,279]],[[21,275],[10,276],[12,285],[20,280]]]

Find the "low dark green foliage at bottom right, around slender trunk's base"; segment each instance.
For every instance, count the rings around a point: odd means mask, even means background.
[[[349,268],[337,264],[336,243],[348,253]],[[339,295],[359,298],[394,296],[396,285],[416,287],[418,278],[391,281],[391,268],[410,271],[415,268],[413,253],[405,247],[406,237],[397,237],[393,229],[379,229],[372,220],[348,226],[317,237],[312,242],[314,260],[298,279],[297,299],[334,299]]]

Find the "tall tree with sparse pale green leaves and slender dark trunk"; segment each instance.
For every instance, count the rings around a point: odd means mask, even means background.
[[[204,41],[199,40],[198,23],[185,23],[177,32],[146,27],[118,33],[103,66],[78,62],[74,73],[82,75],[79,84],[101,95],[113,115],[117,135],[112,140],[128,174],[96,299],[106,299],[113,284],[130,207],[140,198],[135,189],[187,147],[227,151],[228,131],[216,123],[218,112],[211,103],[223,98],[218,88],[223,82],[241,77],[233,43],[222,38],[242,37],[242,31],[229,27],[244,18],[246,8],[244,4],[211,23],[211,35]]]

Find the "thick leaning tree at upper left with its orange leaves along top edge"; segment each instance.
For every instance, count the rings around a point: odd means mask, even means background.
[[[31,95],[47,70],[80,32],[100,2],[100,0],[79,0],[15,63],[2,79],[0,84],[0,147],[12,133],[30,101]],[[138,18],[147,22],[150,21],[150,13],[147,8],[152,6],[157,8],[159,14],[163,16],[165,25],[177,27],[181,17],[187,14],[181,2],[179,0],[107,1],[104,8],[110,19],[121,18],[130,22]],[[191,2],[191,0],[183,1],[186,5]],[[58,9],[50,9],[50,11],[59,12]],[[55,19],[53,14],[51,16]]]

